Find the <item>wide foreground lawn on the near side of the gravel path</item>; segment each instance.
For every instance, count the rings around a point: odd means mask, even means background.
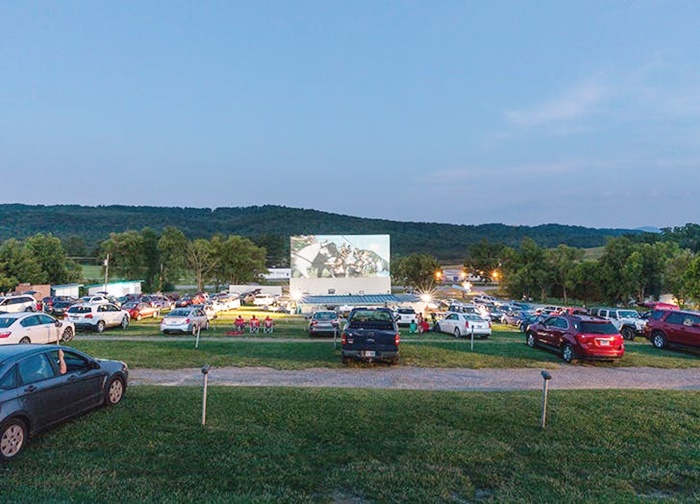
[[[697,502],[700,392],[133,387],[0,468],[4,502]]]

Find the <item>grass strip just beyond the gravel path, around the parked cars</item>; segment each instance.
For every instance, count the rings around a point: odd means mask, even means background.
[[[156,321],[157,322],[157,321]],[[208,362],[213,366],[265,366],[275,369],[307,369],[315,367],[342,367],[338,341],[333,338],[309,338],[303,320],[280,318],[273,335],[258,334],[226,336],[230,325],[220,323],[209,331],[195,349],[191,335],[182,335],[171,341],[158,341],[154,322],[141,321],[127,331],[113,329],[107,335],[144,336],[146,341],[90,340],[81,337],[72,345],[103,358],[119,359],[132,368],[178,369],[200,367]],[[153,327],[156,327],[155,329]],[[146,328],[146,329],[143,329]],[[557,368],[559,354],[525,345],[525,338],[517,330],[496,325],[489,339],[477,339],[471,351],[469,339],[455,339],[447,334],[428,333],[424,336],[407,335],[402,330],[402,366],[442,368]],[[213,339],[209,339],[213,338]],[[637,338],[626,342],[625,357],[618,364],[580,363],[586,366],[650,366],[657,368],[700,367],[697,354],[673,350],[658,350],[648,341]]]

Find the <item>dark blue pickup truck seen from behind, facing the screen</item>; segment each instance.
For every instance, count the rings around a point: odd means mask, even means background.
[[[353,308],[343,329],[343,364],[353,360],[398,364],[399,341],[399,329],[389,308]]]

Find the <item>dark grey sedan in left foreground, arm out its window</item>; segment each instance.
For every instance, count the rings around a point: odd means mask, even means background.
[[[16,458],[29,437],[41,430],[98,406],[119,403],[128,378],[129,368],[123,362],[94,359],[73,348],[1,347],[0,461]]]

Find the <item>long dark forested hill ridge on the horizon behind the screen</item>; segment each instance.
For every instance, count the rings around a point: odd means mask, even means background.
[[[595,229],[560,224],[507,226],[504,224],[454,225],[364,219],[317,210],[265,205],[238,208],[166,208],[147,206],[0,205],[0,240],[23,239],[51,233],[61,239],[79,236],[92,247],[112,232],[159,232],[175,226],[192,238],[216,233],[250,238],[276,236],[288,243],[298,234],[389,234],[392,255],[429,253],[440,260],[462,259],[469,246],[486,238],[517,247],[526,236],[539,245],[560,243],[597,247],[606,237],[636,233],[625,229]]]

